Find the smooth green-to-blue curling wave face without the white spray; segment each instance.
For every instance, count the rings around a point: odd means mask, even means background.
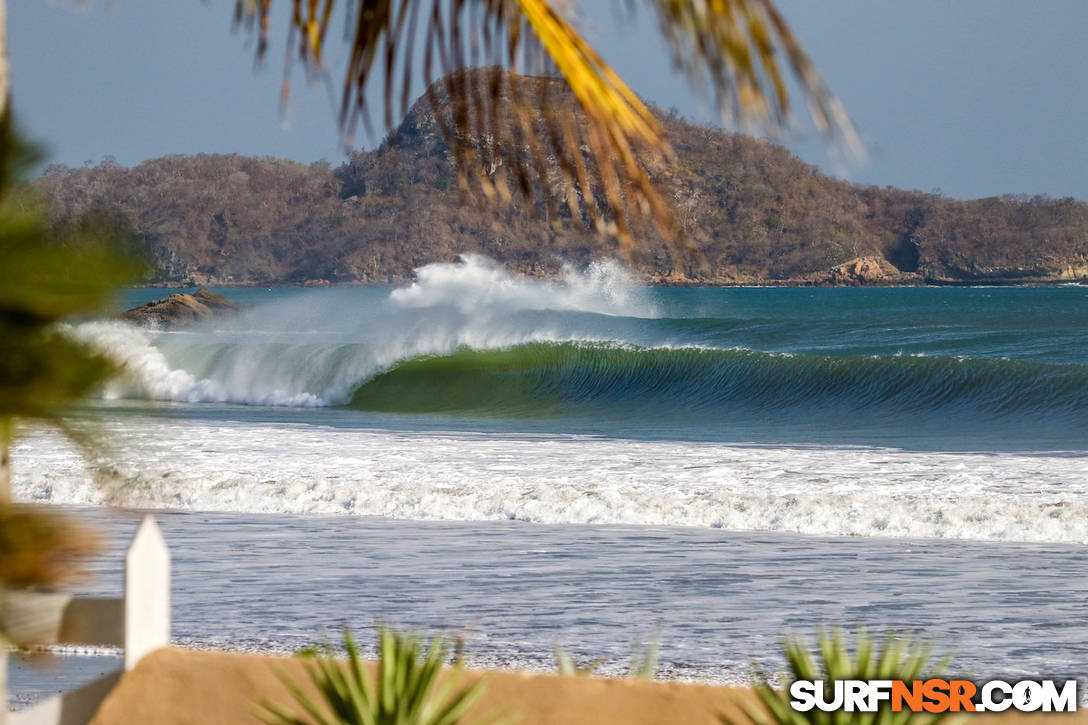
[[[1023,360],[776,355],[533,343],[404,360],[350,407],[474,416],[731,414],[1055,417],[1088,423],[1088,368]]]

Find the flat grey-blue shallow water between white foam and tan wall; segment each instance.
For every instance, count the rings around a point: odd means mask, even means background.
[[[110,551],[77,593],[113,595],[139,517],[91,518]],[[783,636],[812,641],[820,626],[861,619],[918,632],[953,655],[956,674],[1079,675],[1086,641],[1076,622],[1061,643],[1038,634],[1084,601],[1084,546],[255,514],[157,520],[174,560],[172,641],[200,651],[282,656],[336,642],[344,627],[366,651],[386,624],[460,638],[474,667],[554,672],[559,646],[614,676],[627,673],[632,642],[656,639],[659,677],[735,686],[751,683],[754,661],[784,666]],[[245,582],[239,551],[250,552]],[[992,574],[979,579],[984,569]],[[823,583],[809,592],[814,580]],[[1000,597],[1009,591],[1023,593]]]

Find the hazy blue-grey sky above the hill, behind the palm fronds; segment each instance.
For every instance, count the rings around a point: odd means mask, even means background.
[[[279,3],[282,9],[288,4]],[[108,8],[112,5],[112,10]],[[854,181],[957,197],[1088,199],[1088,2],[779,0],[869,149]],[[256,70],[231,0],[8,3],[15,108],[52,160],[239,151],[334,163],[334,103],[294,84],[279,112],[283,23]],[[636,91],[714,121],[670,70],[656,19],[585,0],[594,41]],[[338,30],[338,28],[337,28]],[[336,78],[338,84],[338,78]],[[825,165],[818,143],[792,145]]]

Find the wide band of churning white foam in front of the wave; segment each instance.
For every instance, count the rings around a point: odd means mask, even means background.
[[[134,506],[1088,543],[1084,457],[138,419],[109,428],[106,478]],[[21,440],[15,456],[21,500],[108,499],[48,433]]]

